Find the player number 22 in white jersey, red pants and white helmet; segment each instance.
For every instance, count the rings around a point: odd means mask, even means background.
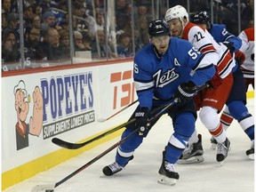
[[[205,28],[200,28],[189,22],[187,10],[176,5],[165,13],[165,20],[169,23],[172,36],[177,36],[188,40],[200,52],[205,55],[211,55],[212,62],[216,65],[218,72],[213,76],[210,84],[212,87],[198,92],[195,97],[196,109],[200,110],[199,116],[201,122],[209,130],[215,140],[218,142],[216,160],[223,163],[228,156],[230,141],[227,138],[225,130],[220,124],[218,114],[228,100],[228,95],[233,84],[232,68],[236,65],[232,59],[227,46],[218,44]],[[212,54],[215,53],[215,54]],[[201,136],[196,135],[197,143],[190,143],[191,148],[188,148],[194,159],[191,161],[204,161],[203,147]],[[187,161],[191,156],[180,156],[179,162]]]

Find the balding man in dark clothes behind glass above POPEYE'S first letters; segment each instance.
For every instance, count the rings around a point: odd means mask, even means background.
[[[38,46],[38,52],[43,60],[61,61],[70,58],[69,49],[60,44],[60,35],[56,28],[48,28],[44,40]]]

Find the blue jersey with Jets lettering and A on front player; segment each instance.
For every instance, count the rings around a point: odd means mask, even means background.
[[[188,41],[172,37],[167,52],[159,56],[153,44],[137,52],[133,78],[140,107],[152,108],[152,100],[171,100],[181,83],[205,84],[215,73],[211,60]]]

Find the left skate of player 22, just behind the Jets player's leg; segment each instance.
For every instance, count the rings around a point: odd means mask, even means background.
[[[202,135],[198,134],[198,142],[184,149],[178,160],[178,164],[196,164],[204,162],[204,149],[202,146]]]

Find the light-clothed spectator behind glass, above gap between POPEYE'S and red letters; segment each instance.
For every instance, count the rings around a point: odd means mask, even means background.
[[[113,59],[117,55],[111,51],[109,44],[106,44],[106,36],[103,30],[97,30],[97,38],[92,42],[92,58],[93,59]],[[98,39],[98,42],[97,42]]]

